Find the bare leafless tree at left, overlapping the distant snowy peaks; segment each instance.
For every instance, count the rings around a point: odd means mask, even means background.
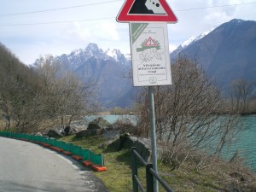
[[[42,75],[46,96],[45,108],[49,116],[54,117],[61,127],[86,113],[95,112],[96,90],[93,82],[83,82],[72,72],[61,67],[52,55],[45,55],[38,61],[38,73]]]

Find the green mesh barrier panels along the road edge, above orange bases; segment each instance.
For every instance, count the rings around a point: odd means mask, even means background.
[[[83,160],[90,160],[94,164],[104,166],[103,154],[94,154],[89,149],[81,148],[79,146],[73,145],[72,143],[64,143],[52,138],[32,136],[23,133],[0,132],[0,137],[9,137],[20,140],[27,140],[30,142],[47,143],[50,146],[61,148],[64,151],[69,151],[72,154],[79,155],[83,157]]]

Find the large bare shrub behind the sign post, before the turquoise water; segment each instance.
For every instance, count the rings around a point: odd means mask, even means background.
[[[172,82],[170,86],[154,88],[156,133],[160,143],[166,143],[172,163],[174,160],[180,164],[189,157],[189,153],[217,144],[220,136],[221,142],[226,143],[233,130],[228,126],[230,124],[225,126],[228,127],[225,131],[224,124],[218,125],[220,92],[196,61],[178,58],[172,65]],[[139,98],[137,129],[138,133],[148,137],[148,91],[143,89]],[[222,149],[220,146],[218,151]]]

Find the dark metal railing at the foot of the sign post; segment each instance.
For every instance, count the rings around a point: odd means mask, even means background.
[[[146,187],[147,190],[143,188],[143,184],[140,183],[137,176],[137,160],[141,162],[143,166],[146,166]],[[158,175],[154,172],[153,165],[147,163],[140,154],[137,153],[136,148],[131,148],[131,172],[132,172],[132,188],[133,192],[138,192],[141,189],[143,192],[154,192],[154,179],[156,179],[167,192],[174,192],[173,189]]]

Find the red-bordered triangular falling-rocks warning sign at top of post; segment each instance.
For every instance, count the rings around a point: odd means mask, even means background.
[[[126,0],[116,20],[118,22],[176,23],[177,17],[166,0]]]

